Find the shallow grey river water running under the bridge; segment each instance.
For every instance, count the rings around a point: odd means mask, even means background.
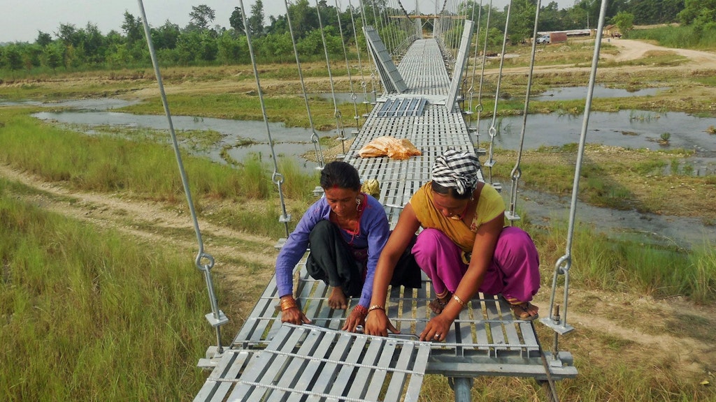
[[[584,91],[584,89],[582,89]],[[560,96],[568,96],[563,94]],[[569,91],[568,91],[569,92]],[[574,90],[575,93],[579,90]],[[584,92],[581,92],[584,94]],[[325,97],[326,95],[324,95]],[[332,99],[328,95],[328,99]],[[541,94],[540,96],[550,96]],[[553,95],[556,96],[556,95]],[[569,95],[571,96],[571,95]],[[611,95],[610,95],[611,96]],[[344,94],[342,102],[352,102],[350,94]],[[358,97],[357,102],[362,102]],[[0,102],[0,105],[3,102]],[[7,104],[7,103],[6,103]],[[35,117],[60,124],[79,125],[92,132],[92,127],[144,127],[147,129],[167,129],[164,116],[136,115],[112,112],[113,108],[122,107],[128,102],[117,99],[84,99],[70,102],[58,102],[54,107],[70,107],[72,110],[60,112],[39,112]],[[47,104],[44,104],[47,106]],[[359,105],[360,107],[360,105]],[[503,149],[517,149],[521,136],[522,117],[506,117],[499,119],[498,133],[495,134],[494,146]],[[231,147],[229,154],[234,160],[243,160],[251,154],[270,157],[269,141],[266,124],[263,122],[243,122],[236,120],[197,118],[175,116],[172,119],[176,130],[213,130],[223,135],[223,139],[211,149],[202,149],[198,155],[210,157],[211,160],[224,162],[219,155],[222,147],[236,144],[241,139],[252,139],[256,143],[246,147]],[[491,119],[480,121],[478,132],[480,146],[489,145],[488,128]],[[534,114],[528,116],[526,130],[526,149],[541,146],[560,146],[579,142],[582,118],[558,114]],[[716,137],[707,132],[716,127],[716,118],[694,117],[689,114],[669,112],[622,111],[614,113],[593,112],[589,118],[587,142],[614,145],[627,148],[659,149],[659,137],[669,132],[669,147],[693,149],[695,156],[687,158],[683,163],[690,164],[695,175],[716,174]],[[311,130],[286,128],[283,124],[269,124],[275,148],[279,155],[291,157],[299,166],[307,171],[314,170],[315,162],[307,162],[300,155],[314,151],[310,141]],[[334,136],[334,132],[318,132],[320,137]],[[508,192],[505,192],[507,195]],[[565,220],[569,211],[569,200],[538,192],[521,191],[518,206],[532,220],[549,221]],[[677,247],[704,245],[705,242],[716,241],[716,230],[713,226],[704,225],[697,218],[669,217],[664,215],[644,214],[636,211],[616,211],[600,207],[579,204],[578,220],[590,222],[597,230],[610,235],[638,239],[644,243],[667,244]]]

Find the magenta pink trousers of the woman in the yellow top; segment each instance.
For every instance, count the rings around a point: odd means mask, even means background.
[[[437,229],[422,230],[412,247],[417,265],[432,280],[436,294],[445,290],[455,293],[468,270],[461,253],[460,247]],[[479,291],[527,302],[537,293],[539,285],[539,255],[530,235],[519,227],[503,228]]]

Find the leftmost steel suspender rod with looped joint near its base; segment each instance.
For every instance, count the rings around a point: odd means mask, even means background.
[[[181,152],[179,149],[179,143],[177,141],[176,132],[174,131],[174,124],[172,122],[172,115],[169,110],[169,103],[167,101],[167,94],[164,91],[164,83],[162,81],[162,74],[159,69],[159,62],[157,59],[157,54],[154,49],[154,44],[152,41],[152,33],[149,27],[149,23],[147,22],[147,14],[144,9],[144,3],[142,0],[137,0],[139,4],[140,13],[142,14],[142,23],[144,25],[144,33],[145,37],[147,39],[147,46],[149,47],[149,53],[150,57],[152,58],[152,65],[154,67],[154,72],[157,77],[157,84],[159,87],[160,97],[162,98],[162,104],[164,107],[164,113],[167,117],[167,121],[169,124],[169,133],[170,137],[172,139],[172,147],[174,149],[174,155],[177,160],[177,165],[179,169],[179,175],[181,177],[181,182],[184,188],[184,194],[186,195],[186,200],[189,207],[189,212],[191,215],[191,220],[194,226],[194,232],[196,234],[196,241],[198,243],[198,253],[196,255],[196,258],[194,260],[194,263],[196,265],[196,268],[200,270],[201,273],[203,273],[204,281],[206,283],[206,289],[209,297],[209,303],[211,304],[211,313],[208,313],[205,315],[209,323],[216,329],[216,346],[217,346],[217,352],[223,353],[223,346],[221,345],[221,325],[228,322],[228,319],[226,318],[226,315],[224,315],[223,311],[219,310],[218,308],[218,300],[216,299],[216,293],[214,292],[214,286],[213,281],[211,279],[211,268],[214,266],[214,258],[208,253],[205,253],[204,251],[204,242],[201,237],[201,230],[199,228],[199,220],[196,215],[196,210],[194,208],[194,202],[191,197],[191,190],[189,188],[189,180],[186,175],[186,171],[184,170],[184,163],[182,161]],[[203,261],[206,261],[206,263],[203,263]]]

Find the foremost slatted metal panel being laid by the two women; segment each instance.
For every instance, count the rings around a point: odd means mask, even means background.
[[[420,394],[430,343],[287,324],[248,356],[228,353],[226,361],[241,359],[233,367],[243,373],[217,368],[203,391],[233,387],[227,401],[411,402]]]

